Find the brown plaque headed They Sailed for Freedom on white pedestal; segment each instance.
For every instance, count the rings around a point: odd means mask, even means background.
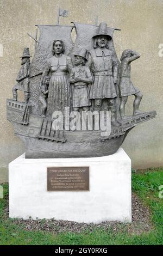
[[[47,167],[47,190],[89,190],[89,166]]]

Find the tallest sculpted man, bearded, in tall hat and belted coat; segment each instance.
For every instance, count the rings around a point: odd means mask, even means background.
[[[118,63],[109,50],[108,41],[112,39],[108,34],[107,24],[100,23],[98,33],[93,36],[94,46],[89,52],[89,67],[93,74],[90,89],[90,99],[94,100],[95,109],[101,109],[103,99],[108,101],[111,111],[111,123],[119,126],[116,119],[115,99]]]

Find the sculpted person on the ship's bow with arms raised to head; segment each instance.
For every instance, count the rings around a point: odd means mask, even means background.
[[[121,56],[121,75],[119,89],[121,97],[120,114],[122,119],[125,118],[125,105],[129,95],[135,96],[133,115],[142,113],[139,111],[139,105],[143,95],[138,88],[133,86],[133,83],[130,80],[130,63],[138,58],[140,58],[140,54],[133,50],[124,50]]]

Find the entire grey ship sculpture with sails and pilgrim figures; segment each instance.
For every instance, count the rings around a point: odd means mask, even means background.
[[[12,89],[14,97],[7,99],[7,119],[25,144],[26,158],[114,154],[135,125],[155,117],[155,111],[136,110],[136,103],[135,114],[130,116],[120,108],[122,99],[131,94],[138,102],[140,91],[133,86],[134,92],[121,96],[118,89],[122,82],[130,81],[130,76],[122,81],[122,62],[113,41],[115,28],[106,23],[77,22],[37,28],[40,38],[35,39],[32,62],[25,48],[21,72]],[[75,42],[72,29],[76,29]],[[134,54],[126,58],[134,60]],[[131,81],[128,84],[131,88]],[[17,100],[17,89],[24,91],[24,102]]]

